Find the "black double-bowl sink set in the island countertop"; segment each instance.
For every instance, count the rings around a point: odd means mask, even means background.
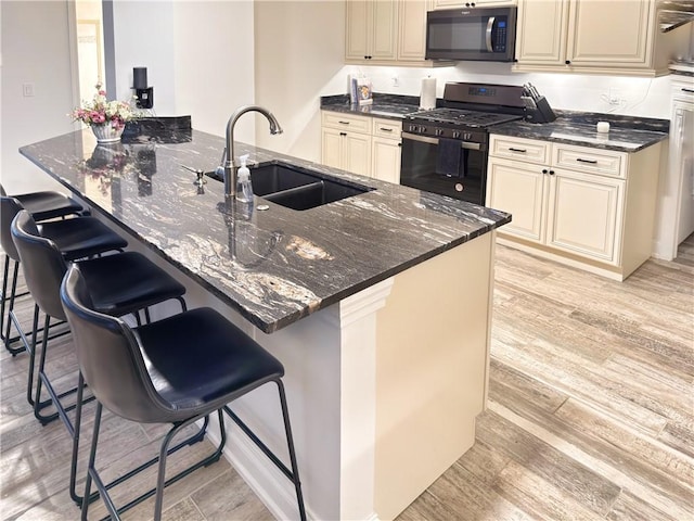
[[[208,174],[209,175],[209,174]],[[217,180],[223,181],[210,175]],[[327,178],[288,163],[273,161],[250,167],[253,193],[292,209],[309,209],[374,190],[342,179]]]

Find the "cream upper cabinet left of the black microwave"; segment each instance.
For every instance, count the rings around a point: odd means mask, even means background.
[[[440,66],[424,60],[426,12],[434,0],[347,0],[345,61],[397,66]]]

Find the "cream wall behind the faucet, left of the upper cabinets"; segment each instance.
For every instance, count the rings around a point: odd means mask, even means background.
[[[345,5],[342,1],[255,4],[256,102],[274,113],[284,134],[257,120],[256,142],[320,161],[320,96],[340,92]]]

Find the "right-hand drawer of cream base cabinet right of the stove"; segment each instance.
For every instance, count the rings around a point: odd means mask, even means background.
[[[552,166],[571,170],[624,179],[627,171],[627,153],[611,150],[588,149],[569,144],[554,144]]]

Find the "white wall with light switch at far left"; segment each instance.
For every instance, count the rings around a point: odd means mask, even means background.
[[[10,193],[56,188],[17,149],[73,130],[67,1],[0,2],[0,179]],[[23,85],[34,96],[23,96]]]

